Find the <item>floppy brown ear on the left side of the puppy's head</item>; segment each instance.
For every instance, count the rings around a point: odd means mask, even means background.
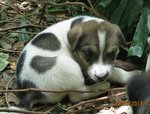
[[[72,51],[76,50],[83,39],[82,28],[79,25],[71,28],[67,36]]]

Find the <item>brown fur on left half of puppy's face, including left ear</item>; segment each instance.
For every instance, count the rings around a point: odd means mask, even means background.
[[[100,54],[97,25],[98,22],[96,21],[83,22],[74,26],[68,32],[68,41],[73,51],[72,54],[84,70],[87,70],[87,67],[96,61]],[[86,50],[92,51],[91,60],[87,61],[86,52],[84,52]]]

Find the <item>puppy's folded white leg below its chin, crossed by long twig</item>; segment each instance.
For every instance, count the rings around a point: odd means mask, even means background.
[[[104,82],[98,82],[91,86],[84,86],[84,87],[80,88],[79,90],[81,90],[81,91],[96,90],[96,89],[100,89],[100,90],[104,89],[105,90],[105,89],[108,89],[109,87],[110,87],[110,83],[107,81],[104,81]],[[69,98],[72,102],[79,102],[82,100],[96,97],[96,96],[100,95],[101,93],[103,93],[103,92],[89,92],[89,93],[71,92],[71,93],[69,93]]]

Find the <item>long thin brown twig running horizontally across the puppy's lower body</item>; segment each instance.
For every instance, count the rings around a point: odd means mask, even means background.
[[[125,90],[125,88],[114,88],[107,90],[48,90],[48,89],[37,89],[37,88],[28,88],[28,89],[15,89],[15,90],[0,90],[0,93],[10,93],[10,92],[50,92],[50,93],[63,93],[63,92],[79,92],[79,93],[93,93],[93,92],[107,92],[107,91],[116,91],[116,90]]]

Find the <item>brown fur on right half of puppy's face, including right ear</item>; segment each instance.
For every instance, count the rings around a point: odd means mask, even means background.
[[[106,31],[106,44],[103,52],[103,62],[105,64],[114,64],[119,53],[119,48],[127,48],[124,36],[117,25],[106,21],[99,24],[99,30]]]

